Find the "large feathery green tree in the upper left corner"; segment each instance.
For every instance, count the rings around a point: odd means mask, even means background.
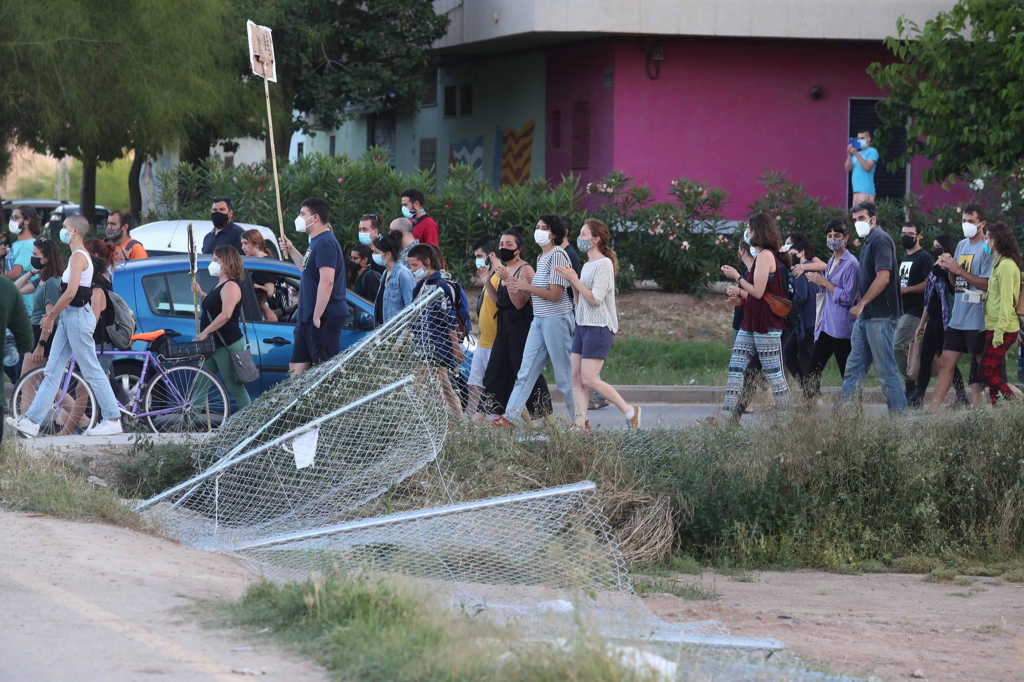
[[[18,142],[79,159],[82,213],[94,219],[97,164],[134,150],[138,170],[191,122],[251,96],[233,60],[245,36],[231,44],[211,34],[232,17],[230,0],[2,3],[0,130],[9,124]],[[137,172],[129,195],[137,214]]]

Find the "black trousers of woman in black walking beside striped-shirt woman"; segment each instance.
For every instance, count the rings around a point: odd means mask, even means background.
[[[526,337],[529,336],[529,324],[509,323],[501,312],[499,310],[498,335],[490,347],[490,359],[483,373],[483,393],[480,395],[481,408],[496,415],[505,414],[505,407],[512,396],[515,379],[522,366]],[[526,400],[526,410],[535,419],[551,414],[551,393],[543,374],[534,384],[534,390]]]

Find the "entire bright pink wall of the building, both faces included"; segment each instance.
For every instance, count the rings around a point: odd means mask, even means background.
[[[882,45],[730,39],[662,44],[657,80],[647,78],[635,41],[549,52],[549,122],[552,110],[562,111],[561,150],[551,148],[547,136],[549,177],[569,170],[571,101],[590,98],[592,152],[585,181],[622,170],[663,200],[669,182],[684,175],[728,189],[727,214],[740,218],[762,190],[758,175],[772,168],[828,204],[846,203],[848,100],[881,96],[865,69],[887,59]],[[613,88],[603,87],[606,66],[614,67]],[[812,85],[824,88],[817,101],[809,94]],[[610,122],[604,114],[609,95]],[[598,111],[601,116],[594,116]],[[910,190],[924,195],[926,206],[966,196],[963,185],[952,191],[923,186],[923,162],[911,164]]]

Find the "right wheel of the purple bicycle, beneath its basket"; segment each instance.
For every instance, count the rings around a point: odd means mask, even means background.
[[[201,433],[224,423],[227,391],[215,376],[190,365],[166,371],[145,389],[142,412],[155,433]]]

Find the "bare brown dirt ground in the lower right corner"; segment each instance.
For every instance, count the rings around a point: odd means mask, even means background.
[[[716,601],[645,599],[667,620],[718,619],[731,634],[773,637],[833,673],[909,680],[1024,680],[1024,584],[970,587],[922,576],[754,572],[743,583],[705,573]],[[696,581],[695,576],[678,580]]]

